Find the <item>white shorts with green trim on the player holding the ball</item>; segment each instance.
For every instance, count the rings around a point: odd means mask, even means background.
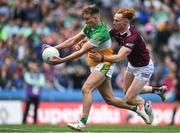
[[[113,71],[114,71],[114,64],[107,65],[107,64],[100,63],[95,67],[91,67],[91,72],[94,71],[94,70],[102,72],[108,78],[111,78],[112,74],[113,74]]]

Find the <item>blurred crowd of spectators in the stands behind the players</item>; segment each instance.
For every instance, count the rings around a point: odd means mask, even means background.
[[[42,40],[52,46],[72,37],[83,26],[81,9],[95,3],[108,27],[120,7],[133,7],[137,26],[155,63],[150,85],[168,86],[168,96],[180,95],[179,0],[1,0],[0,88],[24,89],[24,74],[33,61],[44,76],[44,89],[80,89],[89,74],[86,57],[50,66],[42,61]],[[114,52],[119,46],[113,41]],[[66,56],[75,48],[60,51]],[[121,88],[126,61],[116,64],[113,88]],[[180,96],[178,96],[180,97]],[[179,98],[180,99],[180,98]]]

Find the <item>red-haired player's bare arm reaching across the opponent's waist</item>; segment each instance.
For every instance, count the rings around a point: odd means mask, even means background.
[[[111,63],[118,63],[121,60],[124,60],[130,53],[131,49],[127,47],[122,47],[117,55],[111,55],[111,56],[102,56],[99,53],[91,53],[90,57],[95,61],[108,61]]]

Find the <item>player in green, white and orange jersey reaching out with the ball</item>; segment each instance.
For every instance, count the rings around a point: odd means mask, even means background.
[[[72,38],[58,44],[55,46],[57,49],[64,49],[77,45],[83,39],[87,38],[82,48],[74,53],[61,58],[55,57],[53,60],[49,61],[49,64],[56,65],[66,61],[76,59],[84,54],[88,54],[88,64],[91,69],[91,74],[85,81],[82,92],[83,92],[83,113],[81,119],[76,123],[68,123],[67,126],[78,130],[84,131],[87,127],[87,119],[89,116],[91,104],[92,104],[92,92],[98,88],[100,94],[104,98],[107,104],[129,109],[141,114],[143,119],[149,119],[145,110],[143,112],[138,112],[138,106],[132,106],[124,102],[122,99],[115,97],[113,95],[111,86],[111,76],[113,73],[114,65],[107,61],[94,61],[89,57],[89,54],[96,51],[104,56],[112,55],[113,51],[111,48],[111,39],[109,35],[109,30],[106,25],[101,21],[99,9],[94,5],[89,5],[82,11],[82,17],[85,20],[84,28],[80,33],[73,36]],[[48,47],[47,45],[44,48]],[[43,49],[44,49],[43,48]],[[113,119],[113,118],[112,118]],[[146,120],[148,121],[148,120]]]

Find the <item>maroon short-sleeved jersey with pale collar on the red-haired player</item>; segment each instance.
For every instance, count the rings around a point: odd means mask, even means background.
[[[112,28],[110,30],[110,35],[115,38],[120,46],[124,46],[132,50],[127,57],[132,66],[142,67],[149,64],[149,50],[146,48],[146,44],[142,36],[134,26],[130,25],[128,31],[123,34]]]

